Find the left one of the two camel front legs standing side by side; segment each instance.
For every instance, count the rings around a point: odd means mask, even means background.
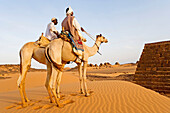
[[[78,64],[78,71],[79,71],[79,76],[80,76],[80,93],[84,94],[84,92],[83,92],[82,63]]]

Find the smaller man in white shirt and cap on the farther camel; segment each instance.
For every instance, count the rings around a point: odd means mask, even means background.
[[[59,32],[55,28],[54,25],[57,25],[58,21],[56,18],[52,18],[51,22],[47,25],[47,29],[45,32],[45,37],[48,38],[50,41],[58,38]]]

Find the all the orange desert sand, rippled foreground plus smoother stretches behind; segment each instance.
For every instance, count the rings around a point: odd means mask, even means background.
[[[129,69],[128,69],[129,68]],[[119,68],[120,69],[120,68]],[[115,70],[116,73],[133,73],[134,68]],[[129,70],[129,71],[128,71]],[[89,69],[88,73],[115,74],[111,69]],[[21,108],[20,94],[16,87],[19,74],[0,79],[0,113],[170,113],[170,98],[155,91],[126,81],[87,81],[91,96],[79,94],[79,77],[75,71],[64,72],[61,83],[63,108],[51,104],[44,87],[46,72],[29,72],[26,92],[31,100]]]

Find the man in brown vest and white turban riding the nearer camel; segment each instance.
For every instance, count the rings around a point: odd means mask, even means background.
[[[82,41],[86,42],[86,39],[82,36],[80,30],[84,31],[84,29],[80,26],[78,21],[73,16],[73,10],[70,6],[66,9],[66,17],[62,22],[62,29],[68,31],[73,36],[75,43],[77,42],[76,45],[80,48],[80,49],[73,48],[73,52],[76,55],[78,55],[79,59],[77,60],[82,59],[84,51]]]

